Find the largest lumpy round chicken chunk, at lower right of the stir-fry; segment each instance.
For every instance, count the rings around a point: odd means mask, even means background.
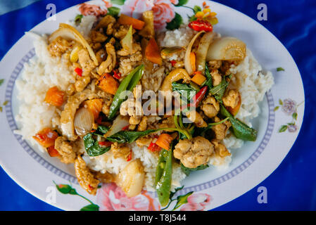
[[[180,140],[175,146],[173,155],[179,159],[184,167],[196,168],[206,165],[214,152],[213,143],[202,136],[196,136],[191,141]]]

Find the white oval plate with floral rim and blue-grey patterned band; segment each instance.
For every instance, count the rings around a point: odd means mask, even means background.
[[[137,2],[144,6],[143,1]],[[126,0],[125,7],[130,2]],[[185,179],[184,189],[179,191],[179,195],[189,191],[194,191],[194,194],[191,195],[189,203],[184,205],[183,210],[210,210],[239,197],[258,185],[279,166],[289,153],[303,122],[304,91],[301,75],[282,43],[265,27],[248,16],[213,1],[207,3],[212,11],[217,13],[220,21],[215,26],[215,31],[223,36],[229,35],[245,41],[263,68],[273,72],[275,84],[264,101],[260,103],[262,113],[253,121],[254,127],[258,129],[258,140],[255,143],[246,143],[242,149],[233,150],[233,160],[228,169],[219,171],[209,168]],[[95,4],[101,8],[108,6],[103,1],[91,1],[89,4]],[[186,6],[194,7],[202,6],[202,4],[203,1],[189,1]],[[122,8],[122,6],[114,6]],[[59,23],[75,18],[79,14],[78,8],[79,6],[68,8],[56,15],[56,21],[45,20],[32,31],[39,34],[51,33],[58,28]],[[189,8],[179,6],[171,8],[174,8],[183,18],[188,14],[193,14]],[[144,7],[141,9],[145,10]],[[165,9],[168,10],[168,8]],[[163,21],[163,18],[160,18],[160,21]],[[120,190],[115,186],[103,185],[97,196],[88,195],[77,184],[71,166],[65,166],[55,158],[49,158],[47,154],[40,153],[38,149],[32,148],[23,141],[20,136],[13,134],[13,130],[17,128],[14,115],[18,109],[18,101],[15,98],[15,79],[21,74],[23,63],[34,56],[32,49],[32,39],[23,36],[1,60],[0,70],[6,81],[1,86],[0,93],[6,96],[6,101],[8,101],[5,113],[0,114],[1,167],[26,191],[63,210],[80,210],[90,203],[75,195],[59,193],[53,186],[53,181],[57,184],[69,184],[71,181],[77,193],[98,204],[100,210],[123,210],[120,204],[115,204],[115,201],[109,198],[112,191],[118,198]],[[276,68],[279,67],[284,68],[286,72],[277,72]],[[284,113],[282,105],[279,105],[279,99],[283,101],[293,99],[296,103],[302,103],[297,108],[296,126],[290,126],[282,133],[279,132],[279,128],[291,122],[292,117]],[[274,112],[277,105],[280,108]],[[55,194],[56,198],[54,198]],[[153,205],[149,204],[152,198]],[[154,193],[142,193],[132,200],[122,197],[116,200],[120,203],[128,203],[129,206],[125,208],[127,210],[151,210],[153,207],[156,209],[158,207]],[[141,206],[137,205],[139,201],[141,201]]]

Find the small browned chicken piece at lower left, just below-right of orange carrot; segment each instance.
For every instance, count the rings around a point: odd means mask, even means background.
[[[72,150],[72,143],[63,136],[58,136],[55,140],[55,149],[58,151],[61,162],[68,164],[74,163],[76,153]]]

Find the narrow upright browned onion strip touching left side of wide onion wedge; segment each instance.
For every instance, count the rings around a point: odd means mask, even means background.
[[[198,44],[198,51],[196,51],[196,70],[200,71],[203,75],[206,70],[206,55],[208,54],[208,48],[212,43],[215,36],[214,32],[207,32],[201,38],[200,44]]]

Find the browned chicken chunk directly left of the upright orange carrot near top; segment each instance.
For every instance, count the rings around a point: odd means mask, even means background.
[[[118,71],[121,73],[122,79],[126,77],[129,72],[132,72],[134,68],[141,64],[142,58],[143,56],[141,51],[137,51],[137,53],[134,53],[130,56],[124,56],[120,58],[120,68],[118,68]]]

